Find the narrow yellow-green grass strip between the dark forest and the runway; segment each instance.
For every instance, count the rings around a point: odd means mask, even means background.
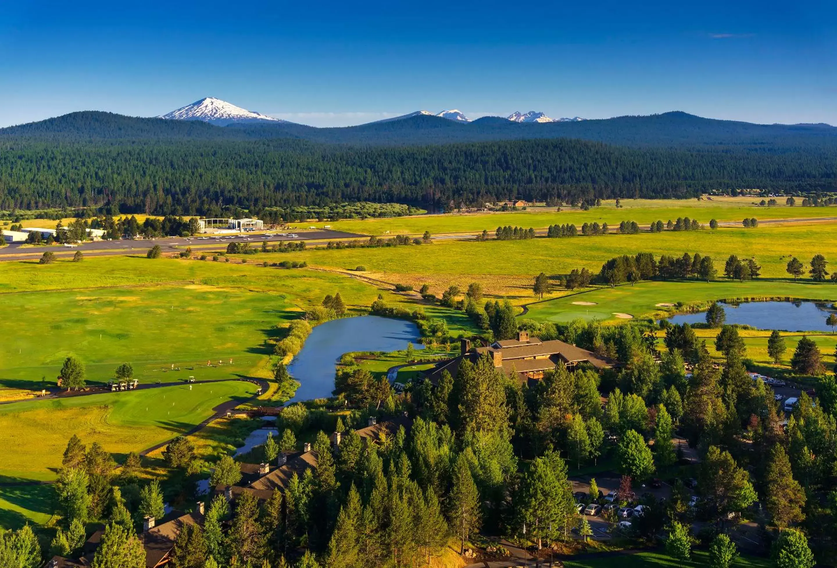
[[[417,235],[429,230],[431,234],[474,232],[488,230],[493,232],[498,226],[522,226],[542,229],[549,225],[574,223],[579,228],[583,223],[606,222],[610,226],[619,226],[620,221],[632,220],[639,224],[662,219],[665,223],[678,217],[697,219],[706,225],[710,219],[718,221],[741,221],[745,217],[757,219],[793,219],[809,217],[829,217],[834,215],[834,208],[828,207],[761,207],[761,199],[752,197],[696,199],[623,199],[621,207],[616,208],[613,200],[603,201],[600,207],[588,211],[565,208],[556,211],[552,208],[530,208],[526,211],[505,213],[475,214],[435,214],[414,215],[411,217],[391,217],[386,219],[347,219],[333,221],[328,225],[334,230],[345,230],[362,235]],[[784,200],[781,199],[781,203]]]

